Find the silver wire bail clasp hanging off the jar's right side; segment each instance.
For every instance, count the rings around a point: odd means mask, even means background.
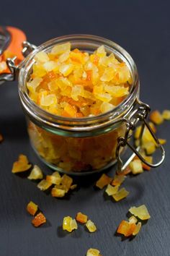
[[[119,137],[117,139],[117,149],[116,149],[116,158],[117,158],[117,173],[121,173],[122,171],[127,168],[129,163],[133,160],[135,155],[138,156],[138,158],[143,161],[143,163],[146,163],[147,166],[150,167],[158,167],[163,163],[165,158],[165,150],[161,143],[158,141],[156,135],[154,135],[153,130],[151,129],[150,125],[146,121],[146,117],[148,116],[148,113],[150,111],[150,108],[145,103],[138,100],[138,104],[140,105],[139,108],[135,111],[133,111],[133,114],[130,115],[128,119],[126,119],[126,132],[124,137]],[[138,121],[142,122],[141,130],[140,130],[140,136],[139,136],[139,145],[137,148],[134,148],[133,145],[130,145],[129,139],[133,135],[133,130],[136,127],[136,124]],[[157,163],[149,163],[146,161],[146,159],[143,158],[143,156],[140,154],[140,148],[142,143],[142,137],[143,137],[143,131],[144,128],[147,127],[148,131],[150,132],[151,136],[153,137],[153,140],[156,142],[156,148],[158,148],[161,151],[161,160]],[[124,164],[122,163],[122,159],[120,158],[121,149],[124,148],[126,145],[133,151],[133,154],[130,155],[130,158],[128,158],[128,161],[126,161]]]

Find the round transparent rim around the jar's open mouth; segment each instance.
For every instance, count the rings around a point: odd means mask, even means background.
[[[47,51],[56,44],[66,43],[70,41],[71,45],[76,45],[76,43],[81,43],[85,46],[95,46],[95,48],[104,45],[106,51],[113,52],[115,56],[122,61],[125,61],[128,65],[131,75],[133,76],[133,83],[130,88],[130,93],[119,105],[115,106],[111,111],[107,111],[103,114],[97,116],[85,116],[82,118],[73,118],[65,116],[57,116],[51,114],[48,111],[40,108],[36,103],[34,103],[28,93],[27,93],[27,75],[29,74],[32,64],[34,62],[34,56],[38,51]],[[22,102],[22,106],[26,114],[30,116],[32,120],[37,123],[42,123],[42,126],[60,128],[60,129],[73,129],[73,131],[81,132],[86,127],[91,127],[95,129],[96,124],[107,123],[108,120],[112,119],[112,122],[117,121],[120,117],[124,117],[128,113],[129,109],[133,106],[136,98],[138,97],[139,91],[139,80],[138,80],[138,70],[135,65],[133,58],[125,51],[124,48],[119,46],[117,43],[112,42],[106,38],[99,37],[97,35],[85,35],[85,34],[75,34],[75,35],[64,35],[58,38],[53,38],[40,46],[37,46],[34,51],[32,51],[19,66],[19,98]],[[71,128],[72,127],[72,128]]]

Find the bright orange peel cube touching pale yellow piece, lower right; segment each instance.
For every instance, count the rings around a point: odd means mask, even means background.
[[[131,236],[135,231],[135,223],[130,223],[128,221],[121,221],[120,226],[118,226],[117,233],[123,234],[124,236]]]

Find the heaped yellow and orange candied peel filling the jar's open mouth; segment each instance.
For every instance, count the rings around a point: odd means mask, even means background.
[[[35,55],[30,81],[32,101],[52,114],[73,118],[98,115],[115,108],[128,95],[131,76],[125,62],[104,46],[93,54],[71,43]]]

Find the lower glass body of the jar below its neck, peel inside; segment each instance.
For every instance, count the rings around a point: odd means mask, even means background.
[[[27,119],[30,141],[37,155],[51,168],[72,174],[102,171],[116,161],[117,138],[125,135],[125,124],[101,135],[73,137],[57,135]]]

